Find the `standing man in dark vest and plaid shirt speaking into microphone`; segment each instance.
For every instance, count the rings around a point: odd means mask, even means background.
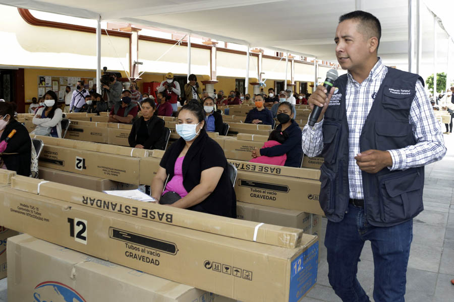
[[[322,108],[302,133],[303,152],[322,156],[320,205],[328,218],[328,278],[343,301],[369,301],[356,274],[365,241],[374,256],[375,301],[404,301],[413,218],[423,210],[424,166],[446,153],[424,81],[377,56],[380,22],[339,18],[337,61],[348,73],[308,104]]]

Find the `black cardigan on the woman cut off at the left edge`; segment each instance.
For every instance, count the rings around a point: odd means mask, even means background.
[[[16,129],[16,134],[8,141],[8,146],[3,153],[19,153],[2,155],[8,170],[16,171],[18,175],[30,176],[31,164],[31,139],[27,128],[16,120],[11,120],[0,136],[0,141],[5,140],[8,134]]]

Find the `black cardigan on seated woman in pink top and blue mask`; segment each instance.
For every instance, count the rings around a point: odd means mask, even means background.
[[[169,181],[174,176],[175,162],[185,144],[183,138],[178,139],[162,157],[159,165],[169,175]],[[226,169],[224,152],[217,142],[208,137],[205,129],[202,129],[183,160],[183,186],[186,191],[190,192],[200,183],[202,171],[213,167],[224,168],[216,188],[204,201],[188,209],[236,218],[237,197]]]

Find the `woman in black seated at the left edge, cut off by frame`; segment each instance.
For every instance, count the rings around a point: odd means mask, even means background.
[[[0,167],[28,177],[31,164],[31,139],[27,128],[14,118],[15,110],[15,103],[0,103],[0,130],[3,131],[0,136],[0,152],[3,153]],[[7,142],[5,139],[13,130],[16,130],[16,133]]]

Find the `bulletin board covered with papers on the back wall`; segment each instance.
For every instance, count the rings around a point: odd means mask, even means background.
[[[52,90],[59,97],[59,101],[64,101],[66,87],[71,87],[71,91],[75,90],[77,81],[84,81],[86,90],[93,88],[93,78],[38,75],[38,98],[42,97],[47,91]]]

